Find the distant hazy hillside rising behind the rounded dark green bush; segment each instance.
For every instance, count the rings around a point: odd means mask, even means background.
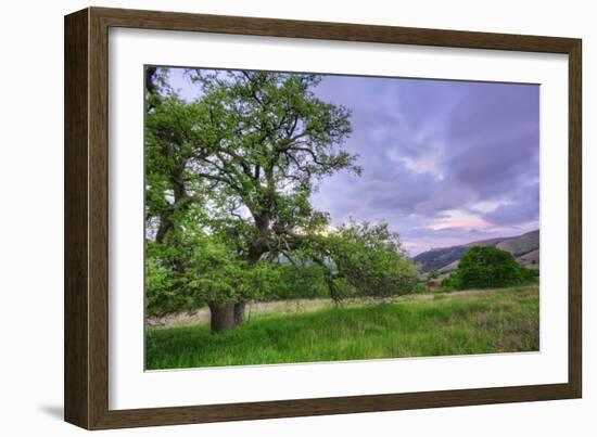
[[[433,248],[417,255],[412,260],[421,266],[423,273],[437,269],[441,273],[456,270],[458,260],[469,247],[495,246],[501,250],[509,252],[517,260],[526,267],[539,266],[539,231],[531,231],[518,236],[506,236],[499,239],[481,240],[460,246]]]

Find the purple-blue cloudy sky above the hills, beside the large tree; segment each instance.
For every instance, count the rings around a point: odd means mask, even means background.
[[[388,221],[411,255],[538,229],[538,86],[325,76],[315,92],[353,111],[363,167],[313,195],[333,224]]]

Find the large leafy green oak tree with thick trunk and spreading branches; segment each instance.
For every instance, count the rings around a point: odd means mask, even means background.
[[[328,237],[328,215],[310,204],[321,178],[360,173],[343,149],[351,113],[314,93],[320,76],[190,69],[199,97],[188,102],[166,75],[147,74],[145,117],[147,236],[160,259],[148,269],[161,273],[162,298],[200,296],[219,332],[242,323],[246,300],[268,282],[265,258],[333,266],[332,291],[341,270],[354,290],[380,277],[363,271],[368,253],[380,266],[395,267],[392,254],[404,261],[373,228]],[[376,235],[381,245],[367,245]]]

